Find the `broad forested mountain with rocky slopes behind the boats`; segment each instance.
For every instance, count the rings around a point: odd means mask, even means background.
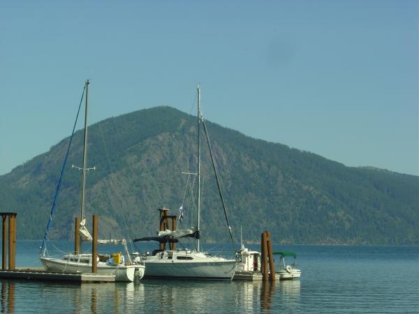
[[[238,239],[270,230],[284,244],[419,244],[419,177],[346,167],[307,151],[265,142],[207,121],[226,207]],[[86,213],[104,238],[153,236],[159,207],[195,219],[196,117],[154,107],[89,127]],[[203,138],[203,145],[205,140]],[[17,212],[17,237],[41,239],[69,137],[0,176],[0,210]],[[202,157],[203,241],[228,241],[208,150]],[[80,207],[82,131],[75,133],[54,212],[52,239],[72,239]]]

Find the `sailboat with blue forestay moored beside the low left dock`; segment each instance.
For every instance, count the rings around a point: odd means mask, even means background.
[[[61,170],[61,177],[59,180],[59,184],[57,187],[57,191],[54,197],[54,202],[52,206],[52,211],[50,214],[50,220],[47,223],[47,230],[45,231],[45,236],[43,240],[43,244],[41,246],[41,253],[40,253],[40,260],[45,269],[48,271],[57,271],[64,274],[75,274],[75,273],[91,273],[92,270],[92,254],[91,253],[81,253],[82,251],[82,242],[83,241],[92,241],[91,234],[86,227],[86,218],[84,216],[84,202],[85,202],[85,186],[86,186],[86,172],[89,170],[94,170],[95,168],[88,168],[87,167],[87,112],[89,107],[89,80],[85,82],[84,90],[86,91],[85,97],[85,112],[84,112],[84,145],[83,145],[83,166],[76,167],[82,172],[82,188],[81,188],[81,205],[80,205],[80,229],[76,232],[80,233],[80,245],[75,246],[74,253],[68,253],[62,257],[50,257],[47,256],[47,233],[50,227],[50,222],[52,220],[52,212],[54,209],[55,201],[57,199],[57,195],[59,192],[59,187],[61,185],[62,174],[64,172],[64,168],[66,166],[66,160],[68,157],[68,150],[70,149],[71,140],[73,135],[71,136],[70,144],[68,145],[66,159],[64,161],[63,170]],[[80,101],[81,105],[81,101]],[[80,109],[79,109],[80,110]],[[77,119],[76,119],[77,121]],[[74,128],[73,128],[74,134]],[[75,167],[73,165],[73,167]],[[75,239],[75,241],[77,241]],[[96,269],[97,274],[100,275],[115,275],[115,281],[134,281],[134,278],[142,278],[144,275],[144,264],[135,264],[133,265],[131,262],[131,258],[128,253],[128,248],[126,247],[126,240],[125,239],[108,239],[108,240],[97,240],[98,244],[122,244],[126,251],[126,256],[128,257],[128,261],[125,264],[122,260],[121,253],[115,253],[112,255],[108,254],[98,254],[96,260]]]

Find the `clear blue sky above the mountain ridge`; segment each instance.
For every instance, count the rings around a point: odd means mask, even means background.
[[[418,171],[418,1],[1,1],[0,174],[157,105],[348,166]],[[82,128],[80,124],[79,128]]]

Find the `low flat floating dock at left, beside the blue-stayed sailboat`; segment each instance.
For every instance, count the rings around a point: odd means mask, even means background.
[[[93,273],[62,274],[45,271],[42,267],[19,267],[15,270],[0,270],[0,279],[26,279],[36,281],[71,281],[73,283],[110,283],[115,282],[115,275]]]

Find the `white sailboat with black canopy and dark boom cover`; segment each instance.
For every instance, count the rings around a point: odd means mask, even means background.
[[[134,242],[154,240],[159,241],[160,243],[160,247],[158,250],[154,250],[151,255],[149,253],[145,253],[141,257],[142,262],[144,262],[145,264],[145,278],[189,278],[231,280],[235,273],[237,265],[236,260],[226,259],[225,257],[213,256],[210,253],[201,251],[200,249],[200,124],[203,124],[204,130],[206,129],[200,111],[199,84],[197,85],[197,91],[198,171],[197,173],[195,173],[195,175],[198,179],[198,213],[196,226],[191,227],[191,229],[177,230],[177,228],[174,227],[175,220],[173,220],[176,216],[168,216],[168,209],[160,209],[161,231],[157,234],[157,237],[133,239]],[[209,143],[210,142],[208,141],[208,146],[210,148]],[[170,218],[172,218],[172,230],[165,229],[163,227],[167,227],[169,225],[168,220]],[[229,229],[231,234],[231,228],[229,227]],[[179,239],[184,237],[193,237],[196,239],[196,248],[194,250],[175,248],[175,244],[179,241]],[[169,250],[166,250],[166,243],[170,245]]]

